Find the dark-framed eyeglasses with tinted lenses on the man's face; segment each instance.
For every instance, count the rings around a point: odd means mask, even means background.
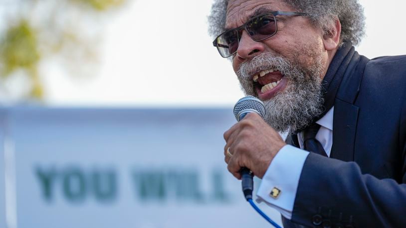
[[[217,47],[218,52],[223,58],[227,58],[237,52],[242,29],[245,29],[248,35],[255,41],[268,39],[278,31],[278,24],[276,23],[277,15],[307,16],[308,14],[303,12],[273,11],[255,16],[243,25],[221,33],[214,39],[213,46]]]

